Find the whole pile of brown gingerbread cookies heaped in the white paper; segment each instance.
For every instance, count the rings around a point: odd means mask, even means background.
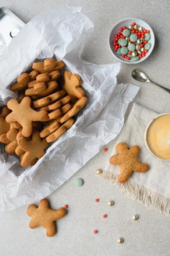
[[[6,153],[20,157],[23,168],[33,166],[49,143],[72,127],[73,117],[87,102],[77,74],[64,71],[62,78],[64,66],[55,59],[34,63],[33,70],[10,87],[19,97],[2,107],[0,143],[6,144]]]

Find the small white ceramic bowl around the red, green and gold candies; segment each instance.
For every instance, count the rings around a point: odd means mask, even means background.
[[[123,26],[129,26],[130,24],[132,24],[132,22],[135,22],[136,24],[139,24],[141,27],[144,27],[147,30],[150,30],[150,34],[151,34],[151,39],[149,41],[149,43],[151,43],[151,48],[148,50],[148,53],[146,53],[145,57],[139,59],[138,61],[132,61],[132,60],[126,60],[126,58],[122,58],[121,55],[118,55],[114,50],[114,46],[113,46],[113,40],[114,40],[114,35],[117,34],[119,31],[119,29]],[[145,22],[142,21],[140,19],[136,19],[136,18],[127,18],[124,20],[121,20],[119,22],[117,22],[113,28],[111,29],[110,33],[109,33],[109,37],[108,37],[108,45],[109,45],[109,49],[111,51],[111,53],[113,54],[113,56],[120,62],[126,63],[126,64],[137,64],[140,62],[145,61],[151,54],[153,47],[154,47],[154,33],[153,30],[151,29],[151,27]]]

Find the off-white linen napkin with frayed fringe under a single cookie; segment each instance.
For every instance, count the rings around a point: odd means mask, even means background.
[[[112,152],[112,155],[116,154],[115,146],[119,142],[125,142],[129,147],[138,145],[141,148],[139,159],[149,164],[149,171],[145,173],[133,171],[131,178],[121,184],[117,181],[117,174],[120,173],[119,167],[111,165],[108,161],[103,176],[117,184],[121,191],[126,192],[133,200],[170,216],[170,163],[153,157],[144,142],[147,125],[157,114],[151,109],[134,103]]]

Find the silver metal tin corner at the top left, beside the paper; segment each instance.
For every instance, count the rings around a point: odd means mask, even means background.
[[[25,25],[8,8],[0,8],[0,54]]]

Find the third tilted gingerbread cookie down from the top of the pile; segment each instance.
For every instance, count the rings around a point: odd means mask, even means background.
[[[26,96],[31,96],[32,99],[38,99],[39,97],[47,96],[51,93],[53,93],[58,87],[58,84],[56,81],[51,81],[48,83],[37,83],[34,85],[33,88],[28,88],[25,91]]]

